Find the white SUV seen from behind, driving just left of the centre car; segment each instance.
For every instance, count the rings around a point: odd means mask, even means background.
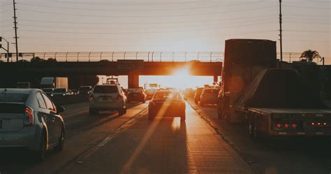
[[[124,115],[127,102],[119,85],[96,85],[89,96],[89,115],[96,115],[101,110],[117,110],[119,115]]]

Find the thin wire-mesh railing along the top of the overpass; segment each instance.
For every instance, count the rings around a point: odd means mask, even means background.
[[[283,61],[300,61],[300,52],[283,52]],[[8,61],[16,61],[15,53]],[[117,61],[119,59],[143,59],[144,61],[223,61],[223,52],[23,52],[19,60],[30,61],[32,57],[57,59],[57,61]],[[326,57],[325,57],[326,58]],[[280,59],[279,52],[277,59]],[[0,60],[6,62],[5,53]],[[320,59],[314,59],[321,64]]]

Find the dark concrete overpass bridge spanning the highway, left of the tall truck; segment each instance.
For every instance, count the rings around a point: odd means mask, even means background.
[[[1,81],[20,77],[128,75],[128,87],[139,85],[139,75],[172,75],[186,68],[191,75],[221,75],[221,61],[144,61],[118,59],[117,61],[38,61],[0,64]]]

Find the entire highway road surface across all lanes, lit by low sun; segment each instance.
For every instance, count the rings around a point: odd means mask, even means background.
[[[0,150],[0,173],[330,173],[331,143],[250,140],[243,124],[216,118],[215,106],[186,103],[179,118],[147,120],[147,103],[126,115],[90,116],[88,103],[66,106],[66,145],[36,162]]]

